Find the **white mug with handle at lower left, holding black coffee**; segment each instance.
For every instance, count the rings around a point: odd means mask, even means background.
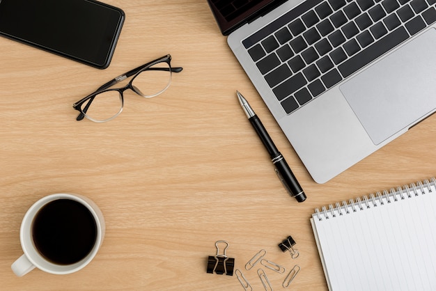
[[[87,232],[87,233],[92,233],[91,235],[95,235],[95,240],[92,240],[91,244],[89,244],[88,246],[89,251],[86,251],[86,253],[84,253],[83,255],[83,258],[80,257],[79,260],[77,261],[71,261],[68,263],[65,263],[64,261],[59,263],[56,260],[51,260],[50,258],[47,257],[47,255],[44,255],[41,252],[40,250],[41,248],[38,249],[37,246],[38,242],[35,241],[37,236],[43,237],[44,233],[47,233],[47,230],[44,229],[43,232],[38,234],[38,229],[40,229],[39,224],[42,224],[43,226],[44,222],[36,222],[36,221],[44,221],[42,218],[40,218],[40,216],[44,217],[45,215],[44,213],[47,212],[47,209],[56,210],[56,207],[58,207],[58,209],[61,210],[62,208],[56,206],[59,205],[59,203],[72,203],[73,205],[77,205],[78,207],[81,208],[83,208],[81,206],[83,205],[84,207],[86,207],[88,211],[80,210],[79,212],[83,212],[83,213],[86,212],[88,218],[90,217],[90,215],[92,215],[92,219],[95,222],[95,230],[92,230],[92,232],[91,231]],[[79,203],[80,205],[77,203]],[[71,212],[77,213],[76,210]],[[65,211],[63,211],[62,213],[65,213]],[[47,215],[45,215],[45,217],[47,217]],[[56,221],[56,220],[61,221],[56,225],[56,228],[62,228],[63,219],[49,219],[47,221]],[[88,222],[89,221],[91,221],[91,219],[88,219]],[[66,224],[67,223],[65,223],[65,225]],[[88,223],[88,225],[89,224],[90,223]],[[50,229],[54,229],[53,226],[50,227],[52,227]],[[65,226],[63,230],[66,229],[68,228]],[[34,203],[24,215],[24,219],[22,221],[21,228],[20,228],[20,241],[24,254],[20,258],[15,260],[11,268],[13,269],[13,272],[17,276],[24,276],[25,274],[31,272],[31,270],[33,270],[35,267],[41,269],[42,271],[52,274],[70,274],[73,272],[77,272],[80,269],[84,268],[86,265],[88,265],[88,263],[91,262],[91,260],[93,260],[93,258],[97,254],[103,242],[105,229],[106,228],[104,224],[103,214],[98,208],[98,206],[95,203],[93,203],[91,199],[77,194],[52,194],[49,196],[45,196],[40,200],[38,200],[36,203]],[[80,233],[80,235],[82,235],[82,233]],[[89,236],[90,235],[88,235],[88,237]],[[49,246],[49,248],[52,248],[52,245],[54,245],[53,239],[47,240],[47,242],[48,242],[47,246]],[[64,249],[68,247],[70,246],[65,246]],[[57,248],[55,247],[52,249],[57,249]],[[75,253],[75,251],[73,250],[72,253]]]

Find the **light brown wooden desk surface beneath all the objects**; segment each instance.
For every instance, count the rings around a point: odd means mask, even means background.
[[[245,263],[301,267],[292,290],[327,290],[309,217],[314,208],[435,175],[436,116],[326,184],[316,184],[221,36],[205,0],[106,0],[123,8],[111,65],[98,70],[0,38],[0,281],[3,290],[243,290],[235,276],[205,272],[215,242]],[[104,82],[170,53],[185,70],[146,100],[125,94],[109,123],[77,122],[72,103]],[[297,203],[277,179],[240,108],[239,90],[263,120],[308,196]],[[102,249],[64,276],[10,269],[22,255],[20,223],[47,194],[72,192],[100,205]],[[288,235],[299,258],[281,253]],[[268,272],[275,290],[285,275]]]

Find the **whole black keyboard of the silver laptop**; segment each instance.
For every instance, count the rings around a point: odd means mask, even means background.
[[[307,0],[242,41],[286,113],[436,21],[436,0]]]

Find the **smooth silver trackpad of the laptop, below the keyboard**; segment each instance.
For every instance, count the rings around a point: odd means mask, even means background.
[[[376,145],[436,108],[436,29],[341,85]]]

